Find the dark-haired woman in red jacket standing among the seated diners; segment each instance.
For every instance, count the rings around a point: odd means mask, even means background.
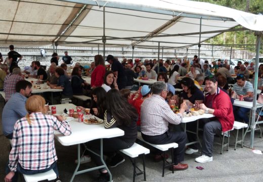
[[[103,78],[106,73],[106,67],[104,59],[101,55],[96,55],[95,60],[95,69],[92,72],[91,86],[92,88],[101,86],[103,84]]]

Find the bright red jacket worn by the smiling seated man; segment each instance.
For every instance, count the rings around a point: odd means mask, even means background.
[[[205,97],[204,104],[206,103],[206,98],[211,97],[210,94],[207,94]],[[218,119],[218,121],[222,125],[222,131],[228,131],[233,128],[234,125],[234,114],[233,114],[233,106],[228,94],[226,94],[223,90],[217,87],[215,96],[212,101],[212,109],[214,109],[213,115]]]

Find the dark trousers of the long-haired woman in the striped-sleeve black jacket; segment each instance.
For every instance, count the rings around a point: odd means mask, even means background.
[[[121,150],[121,149],[127,149],[134,145],[134,142],[125,142],[119,137],[110,138],[110,139],[103,139],[103,154],[110,156],[113,153]],[[93,150],[97,154],[100,154],[100,139],[93,140],[91,142],[86,143],[87,148]],[[101,162],[100,156],[97,156],[90,152],[90,156],[92,160],[96,163],[97,166],[103,165]],[[104,169],[101,169],[103,171]]]

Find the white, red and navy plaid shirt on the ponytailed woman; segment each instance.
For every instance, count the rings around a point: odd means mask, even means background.
[[[30,114],[31,125],[26,117],[17,120],[13,133],[13,148],[9,155],[9,168],[16,171],[17,163],[24,169],[46,169],[58,160],[54,145],[54,129],[70,135],[66,121],[40,112]]]

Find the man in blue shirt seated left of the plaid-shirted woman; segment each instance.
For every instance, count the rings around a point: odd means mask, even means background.
[[[31,95],[32,84],[26,80],[16,83],[16,93],[6,103],[2,114],[3,133],[8,139],[13,138],[13,129],[16,121],[27,114],[25,103]]]

